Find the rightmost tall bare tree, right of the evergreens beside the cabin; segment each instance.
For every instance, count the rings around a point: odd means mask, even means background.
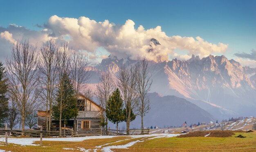
[[[143,117],[150,110],[150,101],[148,97],[148,92],[150,91],[152,79],[151,75],[148,73],[148,61],[144,57],[140,59],[138,57],[136,64],[136,81],[137,81],[137,94],[139,96],[139,100],[137,102],[137,113],[141,116],[141,133],[143,134],[144,126],[143,126]]]

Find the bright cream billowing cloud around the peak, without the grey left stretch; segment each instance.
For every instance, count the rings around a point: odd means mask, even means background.
[[[72,37],[69,42],[75,48],[93,53],[98,47],[103,47],[119,58],[136,59],[137,56],[146,56],[150,60],[166,60],[168,55],[177,56],[173,53],[174,49],[188,51],[188,55],[183,55],[184,58],[192,54],[207,56],[211,53],[225,53],[228,47],[228,44],[209,43],[201,37],[169,37],[161,26],[145,30],[142,25],[137,29],[134,25],[132,20],[127,20],[124,25],[115,25],[108,20],[97,22],[86,17],[76,19],[54,15],[49,18],[46,28],[52,31],[50,35],[57,40],[63,40],[65,35]],[[161,45],[149,52],[151,38],[157,39]]]

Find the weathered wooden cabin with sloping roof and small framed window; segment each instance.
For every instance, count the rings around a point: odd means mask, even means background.
[[[77,131],[100,129],[101,115],[104,110],[101,106],[85,95],[79,94],[77,97],[77,108],[79,111],[76,122],[74,122],[74,119],[67,120],[66,129],[74,129],[74,123],[76,123]],[[46,111],[38,110],[38,127],[41,126],[46,126]],[[59,128],[59,120],[52,118],[52,126],[53,128]],[[64,128],[64,121],[61,127]]]

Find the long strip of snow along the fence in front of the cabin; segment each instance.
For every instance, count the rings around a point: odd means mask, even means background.
[[[143,137],[156,137],[156,136],[166,136],[166,134],[144,134],[144,135],[127,135],[123,137],[132,137],[132,138],[143,138]],[[58,137],[58,138],[43,138],[43,141],[84,141],[89,139],[106,139],[113,137],[122,137],[122,136],[88,136],[88,137]],[[5,142],[5,138],[0,138],[0,141]],[[40,141],[40,138],[8,138],[8,143],[14,143],[18,145],[34,145],[35,141]]]

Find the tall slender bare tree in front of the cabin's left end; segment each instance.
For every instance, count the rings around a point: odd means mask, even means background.
[[[57,48],[53,39],[43,43],[40,48],[40,84],[41,84],[41,98],[45,101],[46,107],[46,130],[51,130],[51,115],[52,115],[52,101],[54,99],[54,89],[57,77]],[[49,106],[49,109],[48,109]],[[49,123],[48,123],[49,110]],[[49,124],[49,126],[48,126]],[[48,129],[49,128],[49,129]]]

